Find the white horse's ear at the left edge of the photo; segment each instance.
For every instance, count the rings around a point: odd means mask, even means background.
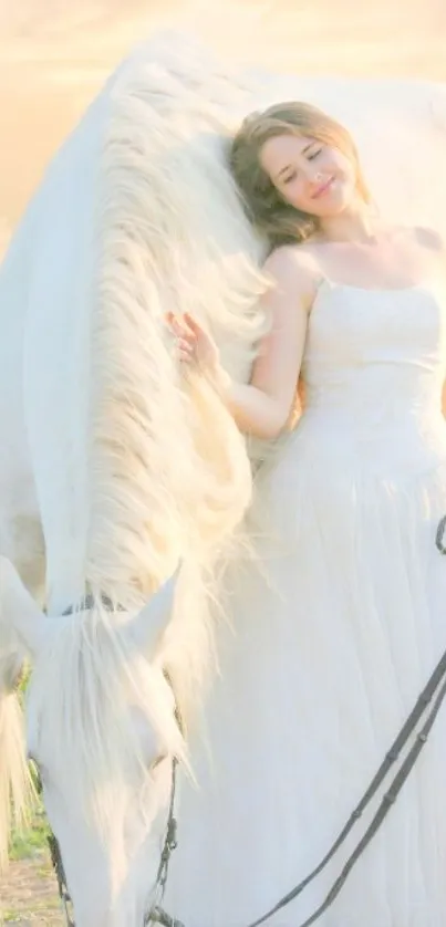
[[[24,649],[35,656],[49,619],[24,587],[11,561],[0,556],[0,637],[1,628],[18,635]]]

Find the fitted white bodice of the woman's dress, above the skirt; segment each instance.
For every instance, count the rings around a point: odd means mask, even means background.
[[[439,281],[400,290],[324,281],[309,321],[298,431],[333,461],[369,456],[424,469],[446,459],[445,375]]]

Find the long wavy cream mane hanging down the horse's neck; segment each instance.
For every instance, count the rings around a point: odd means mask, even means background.
[[[124,601],[128,589],[147,595],[178,553],[206,556],[250,499],[245,441],[206,381],[181,381],[164,321],[168,309],[191,312],[248,375],[266,283],[225,157],[242,94],[187,43],[175,54],[148,49],[112,90],[96,215],[86,579]]]

